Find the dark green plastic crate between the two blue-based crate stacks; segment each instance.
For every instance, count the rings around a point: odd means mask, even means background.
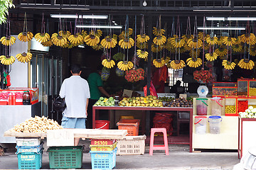
[[[49,147],[50,169],[76,169],[82,167],[82,146]]]

